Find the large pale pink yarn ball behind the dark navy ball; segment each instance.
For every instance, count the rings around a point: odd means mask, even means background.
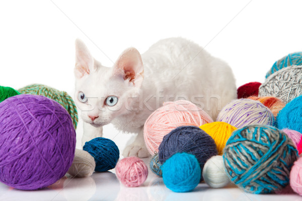
[[[166,102],[145,121],[143,136],[151,155],[159,151],[165,135],[180,126],[201,126],[213,120],[201,108],[188,100]]]

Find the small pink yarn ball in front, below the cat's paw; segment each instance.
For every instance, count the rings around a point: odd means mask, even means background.
[[[140,186],[148,176],[146,164],[135,156],[118,161],[115,172],[118,180],[127,187]]]

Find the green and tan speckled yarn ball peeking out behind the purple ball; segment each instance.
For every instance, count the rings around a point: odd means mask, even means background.
[[[43,95],[58,102],[72,118],[74,129],[77,129],[78,111],[72,98],[65,91],[54,89],[43,84],[31,84],[18,90],[21,94]]]

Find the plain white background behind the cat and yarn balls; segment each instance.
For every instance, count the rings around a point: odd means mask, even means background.
[[[127,47],[143,53],[178,36],[228,62],[237,86],[263,82],[277,59],[302,50],[301,8],[299,0],[1,1],[0,85],[41,83],[73,97],[76,38],[112,66]],[[111,126],[104,132],[117,133]]]

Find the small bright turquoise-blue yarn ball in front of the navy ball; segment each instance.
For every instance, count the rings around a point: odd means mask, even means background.
[[[163,165],[165,185],[174,192],[193,190],[201,177],[200,166],[196,157],[187,153],[176,153]]]

